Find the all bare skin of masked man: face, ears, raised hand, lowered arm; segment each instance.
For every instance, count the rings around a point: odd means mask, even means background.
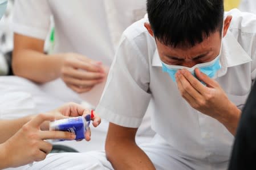
[[[231,16],[227,16],[225,19],[224,36],[229,28],[231,18]],[[153,36],[150,24],[145,23],[144,25],[149,34]],[[199,63],[212,61],[220,54],[221,36],[220,32],[216,31],[194,47],[167,47],[157,39],[156,44],[160,59],[164,63],[193,67]],[[220,121],[234,135],[241,111],[229,101],[224,90],[216,81],[201,73],[199,69],[196,69],[196,76],[199,80],[204,81],[206,86],[202,85],[188,71],[177,72],[176,79],[181,96],[194,109]],[[137,128],[109,124],[105,151],[115,169],[155,169],[149,157],[136,145],[136,131]]]

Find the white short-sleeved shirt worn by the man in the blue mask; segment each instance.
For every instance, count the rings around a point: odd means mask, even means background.
[[[238,10],[225,15],[233,19],[223,39],[222,69],[216,80],[231,102],[242,108],[256,76],[256,16]],[[162,72],[145,22],[147,16],[123,33],[97,113],[116,125],[137,128],[152,99],[152,128],[170,147],[192,159],[207,158],[209,163],[229,160],[233,135],[181,97],[176,82]]]

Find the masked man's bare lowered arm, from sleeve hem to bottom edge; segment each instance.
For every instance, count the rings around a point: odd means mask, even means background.
[[[149,157],[135,143],[137,128],[109,123],[105,151],[114,169],[155,169]]]

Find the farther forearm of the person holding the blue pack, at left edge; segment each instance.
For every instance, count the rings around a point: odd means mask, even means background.
[[[28,116],[15,120],[0,120],[1,131],[0,144],[6,142],[11,136],[13,136],[23,125],[29,122],[33,116]]]

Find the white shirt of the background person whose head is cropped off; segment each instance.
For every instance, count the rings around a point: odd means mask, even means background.
[[[79,53],[109,67],[123,31],[145,13],[146,0],[19,0],[15,1],[12,28],[17,34],[45,40],[52,15],[54,53]],[[103,88],[104,84],[86,93],[86,101],[97,103]],[[42,89],[66,102],[80,100],[60,79]]]

